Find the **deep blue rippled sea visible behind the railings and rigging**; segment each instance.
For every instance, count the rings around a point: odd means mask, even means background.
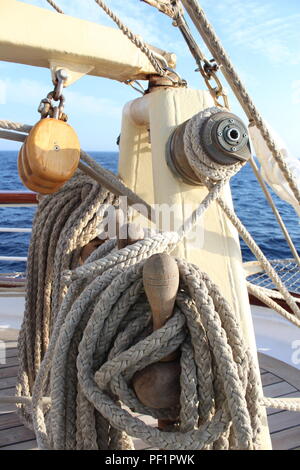
[[[116,172],[116,152],[90,152],[105,168]],[[0,152],[0,191],[25,191],[17,170],[17,152]],[[270,259],[290,258],[289,247],[273,216],[264,194],[256,181],[250,165],[246,165],[231,181],[235,210],[265,255]],[[277,207],[300,251],[300,225],[293,208],[273,194]],[[0,207],[0,227],[31,227],[34,207]],[[26,256],[30,233],[0,233],[0,256]],[[254,259],[241,241],[243,259]],[[0,272],[24,272],[25,262],[0,261]]]

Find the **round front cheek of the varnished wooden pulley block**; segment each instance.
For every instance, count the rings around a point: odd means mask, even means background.
[[[80,143],[74,129],[59,119],[41,119],[25,143],[32,174],[44,181],[63,184],[74,175],[80,159]]]

